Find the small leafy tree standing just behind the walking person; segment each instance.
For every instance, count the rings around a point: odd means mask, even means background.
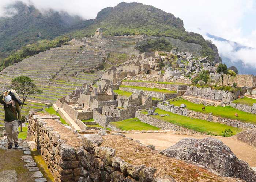
[[[33,83],[33,80],[31,80],[27,76],[18,76],[12,79],[11,86],[12,89],[14,89],[17,94],[22,95],[23,102],[27,99],[28,95],[31,94],[42,94],[42,90],[39,90],[36,87],[36,85]],[[22,110],[23,105],[20,106],[20,110]],[[22,123],[20,124],[20,131],[22,131]]]

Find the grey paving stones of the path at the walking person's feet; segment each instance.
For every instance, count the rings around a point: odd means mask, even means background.
[[[21,160],[23,161],[24,165],[23,167],[26,167],[29,172],[32,172],[30,181],[35,181],[35,182],[47,182],[47,180],[43,177],[43,174],[41,171],[39,171],[39,168],[37,167],[37,164],[33,160],[31,156],[31,151],[29,149],[29,146],[27,145],[26,141],[22,141],[19,139],[19,147],[15,148],[13,146],[12,149],[8,149],[8,142],[6,137],[0,138],[0,149],[5,150],[7,152],[13,152],[16,150],[23,151],[23,156],[21,157]],[[8,156],[7,156],[8,157]],[[1,162],[0,162],[1,164]],[[1,170],[1,168],[0,168]],[[17,172],[15,170],[5,170],[0,172],[0,182],[18,182],[17,178]]]

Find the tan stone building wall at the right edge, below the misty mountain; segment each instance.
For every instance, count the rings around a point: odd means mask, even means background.
[[[254,87],[256,86],[256,76],[254,75],[236,75],[235,77],[229,77],[229,85],[237,83],[238,87]],[[227,85],[227,75],[224,75],[224,85]]]

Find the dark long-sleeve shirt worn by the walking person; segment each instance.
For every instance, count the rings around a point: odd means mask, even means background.
[[[14,101],[15,106],[12,106],[12,104],[5,104],[3,97],[3,95],[0,96],[0,103],[4,105],[4,120],[7,122],[11,122],[19,119],[19,121],[21,121],[21,112],[18,102]]]

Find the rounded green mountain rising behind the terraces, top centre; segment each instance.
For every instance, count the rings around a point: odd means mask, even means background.
[[[217,47],[211,41],[206,41],[200,34],[185,31],[181,19],[153,6],[142,3],[119,3],[115,7],[104,8],[98,13],[94,23],[85,29],[72,32],[72,36],[90,36],[99,27],[105,35],[147,34],[200,44],[202,56],[209,55],[212,62],[221,62]]]

